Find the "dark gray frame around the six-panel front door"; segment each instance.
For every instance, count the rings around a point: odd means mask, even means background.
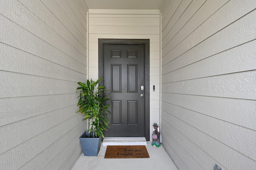
[[[149,70],[149,39],[98,39],[98,71],[99,77],[103,76],[103,45],[104,44],[143,44],[145,47],[145,138],[150,141],[150,70]],[[99,82],[99,86],[104,86],[104,77]]]

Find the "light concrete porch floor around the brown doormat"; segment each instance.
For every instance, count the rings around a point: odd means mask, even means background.
[[[146,149],[150,158],[105,159],[106,149],[101,144],[98,156],[82,154],[72,170],[177,170],[164,147],[152,147],[149,141]]]

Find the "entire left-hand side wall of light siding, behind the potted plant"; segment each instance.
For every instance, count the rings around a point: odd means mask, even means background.
[[[76,113],[87,79],[82,0],[0,3],[0,169],[70,169],[86,121]]]

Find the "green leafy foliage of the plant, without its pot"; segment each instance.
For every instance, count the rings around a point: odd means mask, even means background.
[[[80,87],[77,88],[77,92],[80,92],[80,96],[78,96],[78,104],[79,107],[78,112],[84,114],[84,119],[88,119],[88,130],[89,134],[92,131],[93,137],[100,137],[104,138],[103,130],[107,130],[106,127],[109,127],[108,123],[108,113],[111,112],[108,110],[109,105],[105,105],[107,100],[107,95],[104,95],[105,86],[98,86],[98,83],[102,77],[100,77],[96,82],[92,79],[87,83],[78,82]]]

